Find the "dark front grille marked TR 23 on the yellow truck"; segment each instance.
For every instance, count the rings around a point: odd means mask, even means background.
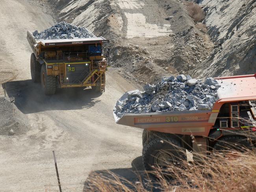
[[[89,64],[66,65],[67,83],[81,83],[90,73]]]

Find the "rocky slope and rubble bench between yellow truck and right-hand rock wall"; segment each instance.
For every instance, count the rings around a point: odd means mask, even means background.
[[[52,13],[58,15],[57,20],[110,39],[111,65],[137,83],[152,83],[170,74],[193,74],[214,47],[206,26],[190,17],[187,1],[43,2],[55,7]]]

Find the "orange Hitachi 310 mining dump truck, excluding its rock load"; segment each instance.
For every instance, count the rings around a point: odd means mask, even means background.
[[[252,149],[256,144],[256,74],[215,78],[221,87],[211,110],[125,113],[117,124],[143,130],[143,164],[166,168],[180,159],[185,149],[194,160],[227,146]],[[254,103],[254,104],[253,104]],[[234,145],[232,145],[234,144]]]

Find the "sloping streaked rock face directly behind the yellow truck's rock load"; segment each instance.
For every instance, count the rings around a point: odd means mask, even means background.
[[[48,4],[54,15],[58,15],[57,21],[85,27],[96,36],[109,38],[108,18],[113,13],[109,0],[48,0]]]

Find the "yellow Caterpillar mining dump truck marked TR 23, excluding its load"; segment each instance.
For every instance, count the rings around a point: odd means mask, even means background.
[[[27,31],[33,50],[30,59],[33,82],[40,82],[46,95],[56,88],[89,87],[105,91],[108,49],[103,37],[77,39],[36,39]],[[104,56],[103,56],[104,55]]]

